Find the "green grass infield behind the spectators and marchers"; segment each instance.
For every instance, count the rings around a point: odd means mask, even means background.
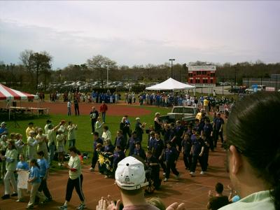
[[[140,106],[137,106],[138,108]],[[148,128],[150,125],[154,125],[153,119],[155,118],[155,113],[160,112],[162,115],[165,115],[166,113],[170,112],[171,109],[166,108],[158,108],[158,107],[151,107],[151,106],[141,106],[142,109],[148,109],[151,110],[152,113],[150,115],[141,116],[141,123],[147,123],[146,127]],[[125,108],[124,108],[125,109]],[[125,111],[123,112],[125,113]],[[123,115],[120,114],[120,116],[106,116],[106,125],[109,126],[109,130],[112,133],[112,138],[114,143],[117,130],[120,126],[120,121],[122,119]],[[83,153],[88,152],[92,153],[92,134],[91,134],[91,121],[90,116],[66,116],[66,115],[50,115],[49,118],[52,120],[53,125],[58,125],[61,120],[66,120],[66,123],[68,125],[68,121],[73,121],[74,124],[78,125],[78,130],[76,131],[76,147]],[[9,130],[9,133],[15,132],[20,133],[23,135],[24,141],[26,141],[26,134],[25,130],[28,126],[29,122],[34,123],[34,127],[45,127],[45,121],[48,118],[34,118],[31,120],[18,120],[17,123],[20,125],[20,127],[15,127],[14,121],[6,121],[7,127]],[[131,123],[132,130],[134,130],[135,127],[135,118],[130,118],[129,120]],[[147,135],[144,134],[143,137],[143,146],[146,147],[147,144]],[[67,147],[66,147],[67,149]]]

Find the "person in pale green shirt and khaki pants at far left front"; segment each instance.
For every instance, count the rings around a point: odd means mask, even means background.
[[[10,185],[13,186],[13,193],[11,196],[18,196],[17,183],[15,182],[15,169],[17,167],[18,151],[15,148],[15,141],[8,141],[8,149],[5,156],[1,155],[2,160],[6,161],[6,174],[4,176],[5,195],[2,199],[10,198]]]

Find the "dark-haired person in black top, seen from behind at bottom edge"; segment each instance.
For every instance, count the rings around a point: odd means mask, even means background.
[[[211,190],[209,190],[209,202],[207,204],[207,209],[217,210],[229,204],[228,196],[223,195],[223,184],[216,183],[215,190],[215,196],[213,196]]]

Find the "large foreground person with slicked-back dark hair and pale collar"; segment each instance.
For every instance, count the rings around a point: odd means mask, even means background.
[[[232,185],[243,197],[221,209],[280,209],[280,94],[260,92],[235,104],[228,118]]]

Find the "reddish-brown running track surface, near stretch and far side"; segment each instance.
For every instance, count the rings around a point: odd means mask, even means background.
[[[41,107],[50,107],[51,113],[66,112],[66,104],[64,103],[45,103],[41,105],[43,105]],[[22,106],[24,106],[24,103],[22,103]],[[34,106],[34,104],[32,106]],[[85,110],[85,114],[88,114],[87,112],[90,106],[92,106],[92,104],[80,104],[80,107],[82,108],[80,110]],[[98,108],[99,106],[96,107]],[[119,105],[109,105],[108,112],[109,115],[116,114],[118,116],[123,116],[124,114],[129,116],[140,116],[143,113],[144,109]],[[225,172],[225,151],[223,151],[220,146],[218,147],[219,148],[214,153],[210,152],[209,170],[207,175],[200,175],[200,166],[198,166],[196,176],[190,177],[183,165],[182,157],[180,156],[179,162],[177,163],[177,169],[181,174],[181,179],[172,179],[173,176],[171,175],[167,183],[162,182],[161,190],[155,191],[155,193],[147,195],[147,197],[160,197],[164,200],[166,205],[169,205],[172,202],[185,202],[187,209],[207,209],[208,191],[214,190],[214,186],[218,181],[223,183],[224,186],[227,186],[228,183],[230,183],[228,174]],[[118,192],[118,188],[114,185],[113,179],[104,179],[104,175],[100,175],[98,172],[89,172],[88,168],[89,166],[83,167],[83,192],[85,194],[87,209],[95,209],[98,200],[102,196],[110,194],[113,198],[120,198],[120,193]],[[65,170],[51,172],[48,179],[48,187],[54,201],[45,204],[45,206],[37,206],[36,209],[57,209],[57,207],[62,205],[65,197],[67,178],[68,174]],[[0,195],[3,195],[2,183],[0,184]],[[227,190],[225,190],[225,195],[228,195]],[[0,209],[25,209],[27,202],[18,203],[15,202],[16,199],[16,197],[13,197],[8,200],[0,200]],[[29,198],[26,196],[25,199],[28,201]],[[68,209],[76,209],[78,204],[78,195],[76,195],[76,192],[73,192]]]

